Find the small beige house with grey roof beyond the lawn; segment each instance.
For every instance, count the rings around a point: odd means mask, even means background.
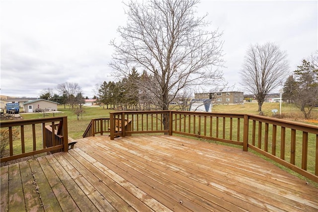
[[[43,99],[31,100],[22,104],[24,112],[57,111],[58,105],[59,103]]]

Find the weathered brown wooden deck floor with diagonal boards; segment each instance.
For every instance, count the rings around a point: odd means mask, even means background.
[[[318,211],[318,188],[241,149],[176,136],[78,139],[1,167],[4,211]]]

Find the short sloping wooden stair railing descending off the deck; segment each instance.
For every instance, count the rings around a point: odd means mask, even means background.
[[[110,132],[110,118],[94,118],[88,124],[85,132],[83,133],[83,138],[95,136],[95,134],[103,135],[103,133]]]

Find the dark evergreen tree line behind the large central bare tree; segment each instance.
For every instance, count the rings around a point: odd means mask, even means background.
[[[104,81],[101,85],[97,85],[97,103],[107,109],[160,110],[162,109],[160,100],[149,90],[149,87],[155,84],[154,76],[146,71],[139,74],[133,68],[121,81]],[[191,92],[183,91],[178,95],[168,95],[168,98],[172,107],[186,110],[191,101]]]

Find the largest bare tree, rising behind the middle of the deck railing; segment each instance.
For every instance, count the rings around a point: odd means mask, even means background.
[[[222,33],[205,31],[206,17],[195,16],[199,0],[130,1],[126,26],[118,28],[110,66],[120,76],[145,70],[156,82],[145,84],[162,110],[184,87],[211,84],[222,78]]]

